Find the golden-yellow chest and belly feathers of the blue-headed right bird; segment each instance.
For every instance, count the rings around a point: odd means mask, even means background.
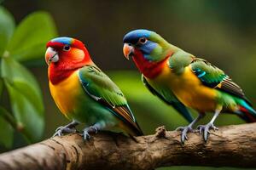
[[[184,105],[198,111],[214,111],[216,108],[216,93],[201,83],[201,80],[188,67],[185,67],[182,74],[177,75],[170,68],[165,68],[154,82],[165,84],[172,89]]]

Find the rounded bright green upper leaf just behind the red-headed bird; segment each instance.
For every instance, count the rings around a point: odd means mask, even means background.
[[[9,54],[20,61],[44,57],[45,44],[56,37],[54,21],[46,12],[29,14],[9,42]]]

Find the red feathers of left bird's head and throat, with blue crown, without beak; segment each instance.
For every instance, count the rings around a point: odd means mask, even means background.
[[[49,81],[52,84],[65,80],[73,71],[93,63],[88,50],[84,47],[84,43],[77,39],[58,37],[49,41],[46,47],[49,50],[46,51],[45,59],[49,63],[48,74]],[[48,51],[54,51],[54,53]],[[56,62],[49,62],[49,59],[53,57],[52,54],[58,54]]]

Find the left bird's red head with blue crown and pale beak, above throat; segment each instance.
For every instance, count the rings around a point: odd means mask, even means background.
[[[84,43],[71,37],[57,37],[46,44],[45,61],[62,69],[75,69],[90,62]]]

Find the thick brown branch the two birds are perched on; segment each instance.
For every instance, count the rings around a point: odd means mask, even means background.
[[[256,167],[256,123],[221,127],[207,144],[198,133],[180,144],[177,132],[158,128],[137,141],[102,132],[47,139],[0,155],[0,169],[153,169],[165,166]]]

